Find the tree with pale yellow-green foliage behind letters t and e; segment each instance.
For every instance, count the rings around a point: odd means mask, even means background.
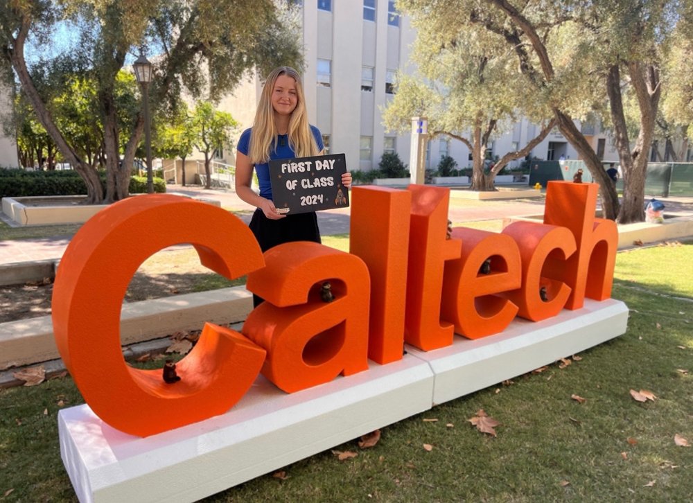
[[[383,113],[385,125],[403,132],[412,116],[428,117],[432,137],[444,134],[461,141],[471,152],[471,188],[493,191],[495,175],[509,161],[528,155],[556,121],[544,120],[550,110],[523,92],[527,78],[516,69],[502,40],[480,26],[450,17],[452,11],[446,6],[429,8],[429,4],[399,4],[416,28],[412,60],[419,75],[398,76],[397,93]],[[518,112],[543,123],[541,131],[522,149],[507,152],[489,170],[484,166],[486,145]]]

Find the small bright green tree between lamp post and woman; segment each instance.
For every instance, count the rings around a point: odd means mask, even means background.
[[[204,154],[204,188],[211,188],[209,162],[214,150],[231,143],[231,133],[238,127],[231,114],[215,110],[208,101],[198,101],[191,121],[195,148]]]

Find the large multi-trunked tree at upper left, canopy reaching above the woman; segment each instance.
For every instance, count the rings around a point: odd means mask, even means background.
[[[292,12],[273,0],[8,1],[0,6],[3,60],[14,71],[46,132],[85,179],[87,202],[101,202],[103,188],[96,170],[82,160],[53,120],[50,101],[35,85],[24,55],[28,37],[48,42],[58,21],[69,21],[78,32],[79,44],[53,55],[52,61],[71,73],[88,72],[96,82],[107,172],[105,200],[112,202],[128,195],[132,162],[143,132],[139,112],[132,116],[131,127],[119,127],[117,80],[128,54],[140,47],[161,48],[150,85],[151,103],[154,109],[174,113],[184,89],[193,96],[204,92],[218,98],[248,70],[264,73],[278,64],[300,68]]]

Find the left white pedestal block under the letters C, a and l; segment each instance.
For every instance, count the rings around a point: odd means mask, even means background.
[[[146,438],[80,405],[58,414],[60,452],[81,502],[191,502],[428,410],[432,392],[407,355],[295,394],[260,376],[226,414]]]

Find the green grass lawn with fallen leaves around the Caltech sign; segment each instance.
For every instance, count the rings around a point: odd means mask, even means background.
[[[691,257],[693,242],[619,253],[613,297],[631,310],[628,332],[568,367],[552,364],[384,427],[374,448],[335,446],[356,458],[327,450],[283,468],[286,479],[267,474],[207,500],[690,501],[693,448],[674,435],[693,444]],[[658,398],[639,403],[630,389]],[[0,500],[75,500],[56,414],[79,403],[70,378],[0,391]],[[468,423],[478,409],[500,421],[497,437]]]

